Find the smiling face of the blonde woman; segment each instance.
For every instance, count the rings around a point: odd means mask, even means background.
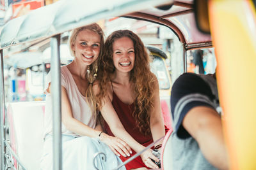
[[[77,61],[90,66],[99,57],[99,34],[88,29],[78,32],[76,40],[72,43],[72,50]]]

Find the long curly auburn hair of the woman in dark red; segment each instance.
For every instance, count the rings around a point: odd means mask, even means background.
[[[141,39],[129,30],[118,30],[108,36],[105,41],[104,55],[99,64],[97,81],[99,93],[95,96],[97,107],[102,107],[102,97],[107,95],[106,89],[111,81],[111,75],[115,72],[113,64],[113,43],[116,39],[127,37],[133,41],[135,63],[130,72],[130,81],[134,87],[136,99],[132,116],[136,120],[140,132],[150,135],[150,110],[153,108],[154,74],[150,71],[150,56],[147,53]],[[146,73],[146,74],[145,74]]]

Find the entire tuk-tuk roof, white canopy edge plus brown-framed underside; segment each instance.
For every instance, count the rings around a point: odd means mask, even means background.
[[[170,9],[158,9],[168,3]],[[134,17],[167,25],[186,48],[211,46],[211,36],[196,29],[193,0],[61,0],[6,23],[0,48],[46,39],[109,17]]]

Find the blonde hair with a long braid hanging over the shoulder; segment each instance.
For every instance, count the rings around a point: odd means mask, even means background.
[[[96,101],[95,101],[95,96],[92,90],[92,85],[93,82],[95,81],[95,78],[97,76],[97,69],[99,66],[99,62],[102,59],[102,55],[103,55],[103,50],[104,50],[104,32],[102,31],[102,29],[100,28],[100,26],[96,23],[90,24],[90,25],[85,25],[83,27],[79,27],[77,29],[73,29],[70,33],[70,37],[68,39],[68,45],[69,45],[69,50],[72,56],[75,56],[75,52],[74,50],[72,50],[72,45],[74,45],[76,38],[77,38],[77,34],[80,31],[83,30],[90,30],[95,32],[96,34],[98,34],[100,36],[100,53],[98,58],[90,65],[88,66],[87,69],[87,73],[86,73],[86,78],[88,80],[88,89],[86,90],[86,100],[89,103],[93,114],[95,117],[97,117],[97,112],[96,112]]]

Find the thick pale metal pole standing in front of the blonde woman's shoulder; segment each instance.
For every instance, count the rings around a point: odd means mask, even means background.
[[[62,169],[60,34],[51,38],[53,169]]]

